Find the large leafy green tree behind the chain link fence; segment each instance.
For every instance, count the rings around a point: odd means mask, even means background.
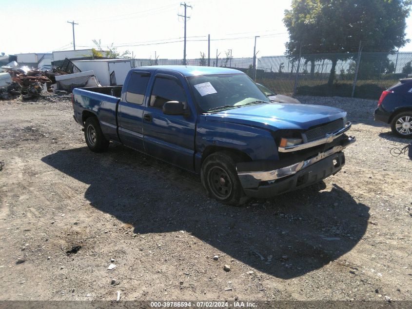
[[[328,84],[335,79],[339,60],[355,59],[363,51],[394,52],[404,46],[411,0],[292,0],[283,22],[289,31],[286,54],[297,60],[299,50],[308,62],[329,59]],[[312,72],[311,72],[312,73]]]

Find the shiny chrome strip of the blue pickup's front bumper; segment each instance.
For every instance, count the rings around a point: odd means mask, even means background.
[[[355,137],[349,137],[347,143],[344,145],[334,146],[328,151],[319,153],[316,157],[308,159],[306,161],[301,161],[293,165],[278,168],[271,171],[258,171],[258,172],[237,172],[240,183],[243,188],[255,188],[262,181],[275,181],[276,179],[283,178],[286,176],[294,175],[297,171],[302,170],[314,163],[329,157],[339,151],[345,149],[348,145],[356,142]]]

